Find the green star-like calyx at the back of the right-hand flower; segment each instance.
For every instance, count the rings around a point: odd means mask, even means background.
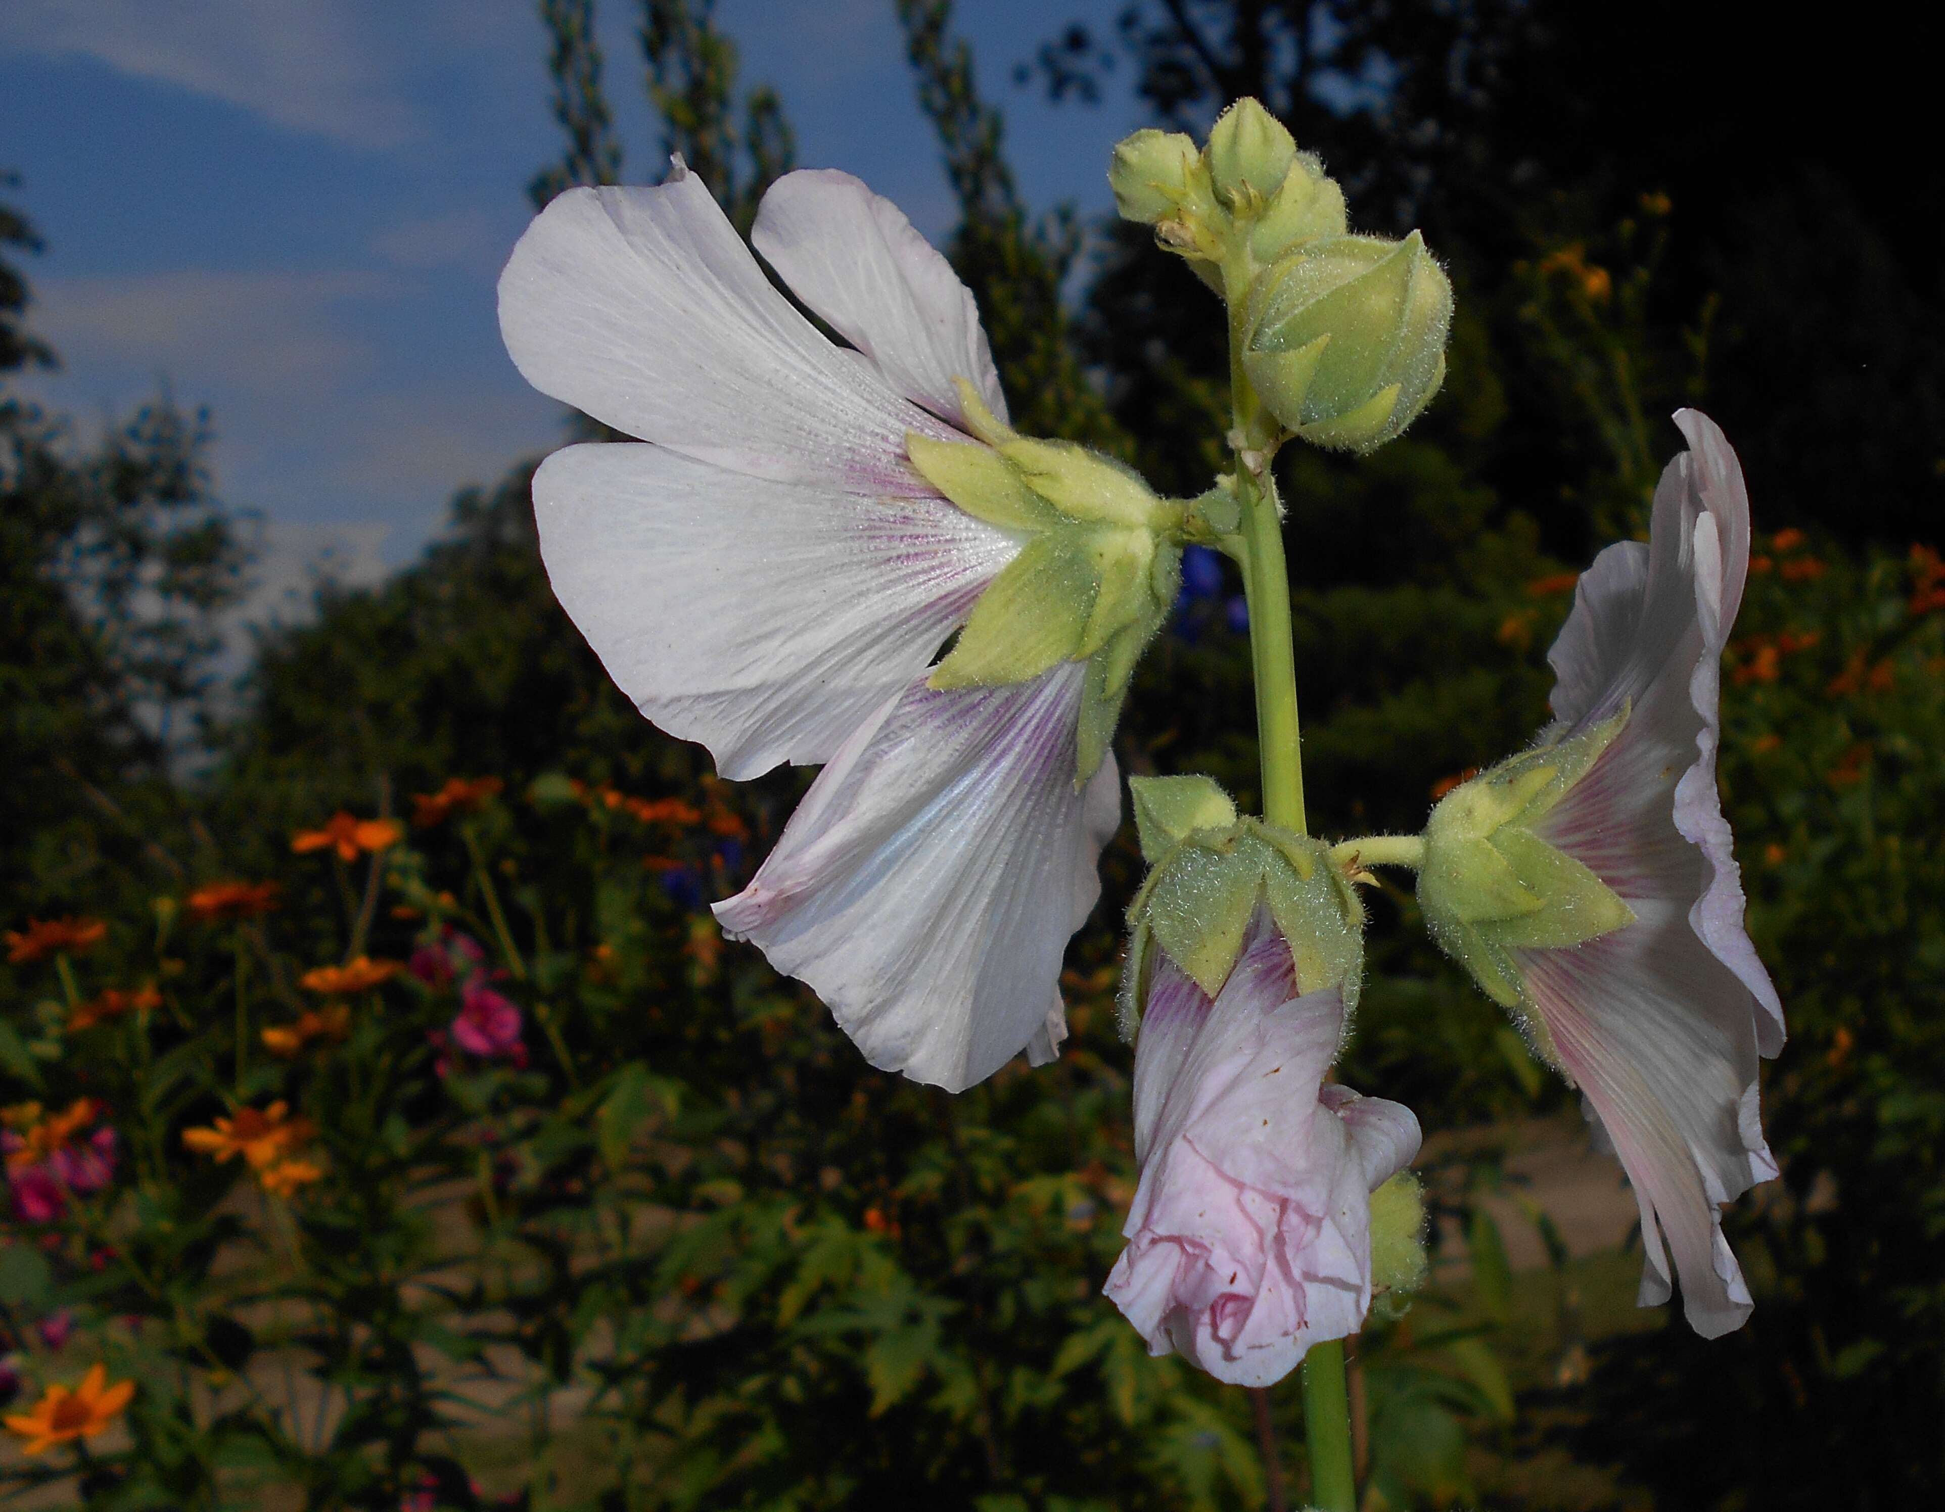
[[[1583,945],[1634,923],[1634,910],[1533,826],[1587,775],[1626,723],[1622,709],[1570,740],[1502,762],[1439,799],[1426,822],[1418,873],[1426,923],[1490,999],[1523,1016],[1535,1049],[1554,1063],[1558,1055],[1529,1011],[1513,950]]]

